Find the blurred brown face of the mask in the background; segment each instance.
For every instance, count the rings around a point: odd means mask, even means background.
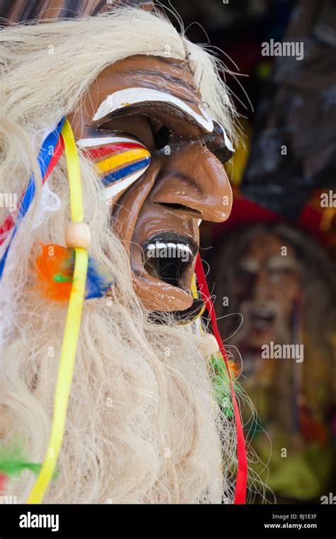
[[[264,343],[293,342],[293,313],[303,293],[301,269],[290,244],[286,256],[281,256],[283,246],[283,239],[261,233],[237,260],[233,293],[244,327],[234,335],[233,343],[255,358],[251,368],[259,365]]]

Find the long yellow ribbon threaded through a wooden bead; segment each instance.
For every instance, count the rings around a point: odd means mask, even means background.
[[[84,218],[84,210],[79,159],[76,143],[74,142],[74,134],[72,133],[72,128],[69,121],[67,121],[67,118],[65,119],[65,123],[62,128],[62,137],[65,142],[72,221],[82,222]],[[82,306],[86,287],[87,267],[88,254],[86,249],[76,248],[74,279],[69,297],[60,366],[57,373],[50,438],[47,445],[45,460],[35,481],[33,489],[30,491],[26,502],[27,504],[40,504],[43,501],[43,496],[45,495],[45,491],[47,490],[47,487],[49,486],[55,472],[57,458],[60,454],[62,440],[65,433],[69,393],[74,374],[79,326],[81,323]]]

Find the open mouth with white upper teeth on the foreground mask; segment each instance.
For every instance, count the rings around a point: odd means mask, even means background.
[[[194,240],[167,231],[146,240],[142,251],[143,267],[151,277],[189,290],[190,270],[198,252]]]

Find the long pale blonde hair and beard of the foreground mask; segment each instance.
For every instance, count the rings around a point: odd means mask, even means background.
[[[168,46],[168,49],[167,49]],[[64,157],[49,182],[60,208],[36,220],[43,131],[79,106],[107,65],[131,55],[191,62],[208,113],[230,133],[233,108],[218,61],[161,16],[139,9],[17,25],[0,33],[1,191],[37,196],[13,239],[1,282],[0,437],[23,440],[29,460],[47,448],[66,306],[35,291],[38,240],[64,244],[69,194]],[[190,54],[189,54],[190,53]],[[90,255],[110,270],[111,296],[86,301],[59,474],[46,503],[220,503],[233,499],[235,426],[215,401],[213,343],[194,324],[157,326],[134,294],[128,256],[110,226],[96,172],[80,155]],[[45,201],[48,205],[48,200]],[[1,221],[3,219],[1,218]],[[1,247],[4,252],[6,242]],[[26,499],[24,472],[8,494]]]

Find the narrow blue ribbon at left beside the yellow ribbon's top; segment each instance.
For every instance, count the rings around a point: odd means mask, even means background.
[[[40,167],[41,177],[43,178],[45,177],[45,172],[47,172],[47,167],[49,167],[52,155],[55,152],[58,139],[60,138],[60,133],[63,127],[63,123],[65,123],[65,118],[62,118],[60,123],[58,123],[57,127],[51,133],[49,133],[49,135],[45,137],[45,140],[43,140],[42,146],[40,148],[40,152],[38,153],[38,166]],[[51,148],[52,148],[52,151],[50,151]],[[16,235],[19,224],[21,223],[22,219],[24,218],[28,209],[30,208],[30,204],[33,202],[35,191],[36,191],[35,177],[34,177],[34,174],[32,174],[28,182],[26,193],[23,195],[20,208],[18,209],[18,217],[16,219],[15,225],[13,226],[11,240],[9,241],[9,245],[7,245],[4,255],[0,260],[0,280],[1,280],[2,274],[4,273],[4,267],[6,264],[7,255],[9,254],[9,248],[11,247],[11,243],[13,241],[14,236]]]

